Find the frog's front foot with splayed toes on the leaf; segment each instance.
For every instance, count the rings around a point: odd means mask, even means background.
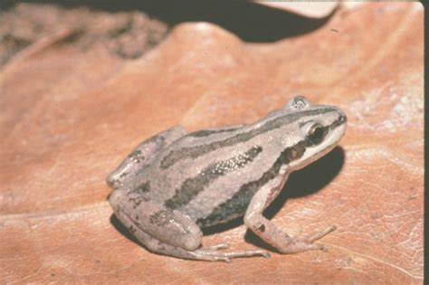
[[[337,227],[331,225],[319,233],[315,233],[310,236],[295,236],[291,237],[291,243],[288,246],[286,251],[281,251],[282,253],[296,253],[296,252],[306,252],[311,250],[321,250],[323,252],[328,251],[328,247],[322,243],[313,243],[327,235],[328,233],[335,231]]]

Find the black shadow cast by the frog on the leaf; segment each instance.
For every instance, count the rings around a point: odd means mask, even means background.
[[[345,154],[341,147],[335,147],[329,154],[321,157],[319,160],[306,166],[298,171],[292,172],[289,176],[286,185],[281,189],[281,193],[264,211],[263,215],[267,219],[277,214],[289,198],[298,198],[306,195],[311,195],[319,191],[325,185],[328,185],[335,176],[338,175],[342,166],[344,165]],[[311,177],[311,179],[309,179]],[[114,214],[110,216],[110,223],[124,236],[129,238],[130,241],[142,245],[141,242],[129,233],[129,230],[119,222]],[[218,224],[209,228],[203,229],[204,235],[211,235],[214,233],[221,233],[230,230],[234,227],[243,224],[243,217],[234,219],[229,223]],[[287,229],[285,229],[287,231]],[[275,251],[270,245],[263,242],[252,231],[247,231],[245,234],[245,241],[250,242],[255,246],[270,249]]]

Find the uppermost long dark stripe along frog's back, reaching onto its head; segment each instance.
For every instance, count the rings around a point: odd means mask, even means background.
[[[208,152],[214,151],[219,147],[230,147],[234,146],[237,143],[241,143],[244,141],[248,141],[258,135],[261,135],[267,131],[270,131],[274,128],[281,128],[286,124],[290,124],[291,122],[302,118],[303,116],[316,116],[324,113],[328,113],[332,111],[330,108],[323,109],[310,109],[307,111],[301,111],[299,113],[291,113],[285,116],[272,119],[265,124],[263,124],[260,128],[254,128],[248,132],[238,134],[231,138],[226,138],[224,140],[214,141],[211,144],[200,145],[195,147],[182,147],[176,150],[172,150],[166,157],[164,157],[161,161],[161,167],[166,169],[169,166],[173,166],[177,161],[184,158],[195,158],[205,155]]]

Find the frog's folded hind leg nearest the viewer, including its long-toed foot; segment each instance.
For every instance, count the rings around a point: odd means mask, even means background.
[[[115,190],[109,202],[119,221],[152,252],[203,261],[269,256],[268,252],[262,250],[221,252],[227,244],[201,248],[203,234],[186,214],[167,209],[138,192]]]

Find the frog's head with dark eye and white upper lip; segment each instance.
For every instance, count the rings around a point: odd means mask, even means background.
[[[297,134],[292,139],[294,143],[284,150],[292,169],[307,166],[327,154],[346,131],[347,116],[336,107],[312,105],[298,96],[283,109],[291,113],[293,133]]]

